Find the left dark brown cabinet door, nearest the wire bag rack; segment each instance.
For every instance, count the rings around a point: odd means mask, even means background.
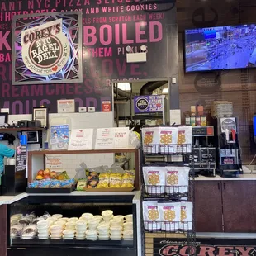
[[[195,221],[197,232],[222,232],[220,182],[196,182]]]

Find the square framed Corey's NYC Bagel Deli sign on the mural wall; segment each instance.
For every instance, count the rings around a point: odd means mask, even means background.
[[[82,12],[12,20],[13,85],[83,82]]]

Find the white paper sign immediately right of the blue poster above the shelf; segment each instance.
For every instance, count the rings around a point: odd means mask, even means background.
[[[69,150],[92,149],[93,129],[73,129],[69,140]]]

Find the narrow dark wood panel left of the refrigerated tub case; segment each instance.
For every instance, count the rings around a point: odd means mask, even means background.
[[[7,255],[7,205],[0,206],[0,256]]]

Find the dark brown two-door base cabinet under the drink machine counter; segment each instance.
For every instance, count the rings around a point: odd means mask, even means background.
[[[256,232],[256,175],[196,178],[197,232]]]

